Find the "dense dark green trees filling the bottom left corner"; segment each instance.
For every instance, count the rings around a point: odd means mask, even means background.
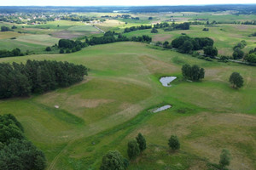
[[[15,116],[0,115],[0,169],[44,170],[46,159],[41,150],[28,141]]]

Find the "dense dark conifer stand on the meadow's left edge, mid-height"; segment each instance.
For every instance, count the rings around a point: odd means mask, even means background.
[[[0,63],[0,99],[42,94],[67,87],[87,75],[84,65],[68,62],[27,60],[26,64]]]

